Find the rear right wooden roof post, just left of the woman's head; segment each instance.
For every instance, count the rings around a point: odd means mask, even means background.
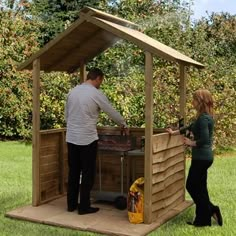
[[[184,124],[186,124],[186,68],[183,64],[180,64],[180,116],[184,118]]]

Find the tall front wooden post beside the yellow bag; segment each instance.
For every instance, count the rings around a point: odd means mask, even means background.
[[[144,223],[152,223],[153,56],[145,52]]]

